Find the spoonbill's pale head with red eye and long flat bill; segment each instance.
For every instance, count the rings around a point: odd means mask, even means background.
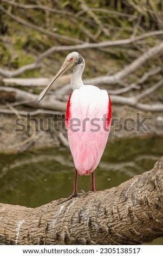
[[[38,96],[38,101],[40,102],[44,96],[47,94],[48,90],[51,86],[55,83],[55,81],[68,69],[74,68],[75,65],[80,65],[84,63],[83,57],[78,52],[71,52],[68,54],[66,59],[63,62],[63,65],[61,66],[61,69],[57,72],[53,80],[48,84],[48,86],[41,92],[41,94]]]

